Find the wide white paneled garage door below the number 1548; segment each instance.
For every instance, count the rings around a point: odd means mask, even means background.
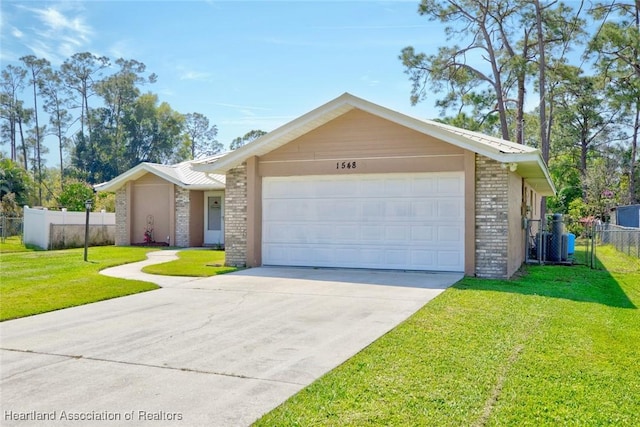
[[[267,177],[264,265],[464,271],[464,175]]]

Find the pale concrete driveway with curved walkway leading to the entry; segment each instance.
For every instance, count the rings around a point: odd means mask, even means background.
[[[104,272],[162,289],[0,323],[0,425],[248,425],[462,277],[140,273],[172,256]]]

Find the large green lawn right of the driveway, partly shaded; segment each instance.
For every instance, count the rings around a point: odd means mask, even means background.
[[[465,278],[258,426],[640,424],[640,262]]]

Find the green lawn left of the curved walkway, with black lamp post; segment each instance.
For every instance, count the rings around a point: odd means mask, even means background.
[[[0,255],[0,320],[14,319],[157,289],[153,283],[102,276],[107,267],[142,261],[148,248],[102,246]]]

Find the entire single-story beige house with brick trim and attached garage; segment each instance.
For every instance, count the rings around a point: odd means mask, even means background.
[[[160,174],[181,168],[206,178],[194,185]],[[116,190],[118,227],[126,224],[118,228],[118,244],[132,243],[131,233],[140,237],[144,214],[135,224],[127,220],[159,197],[145,194],[148,182],[165,185],[162,220],[180,246],[209,243],[198,231],[211,215],[205,196],[224,192],[219,203],[229,265],[478,277],[517,271],[525,259],[524,218],[539,218],[540,197],[555,193],[537,149],[348,93],[224,156],[137,166],[103,184],[99,190]],[[183,228],[190,233],[179,233]]]

